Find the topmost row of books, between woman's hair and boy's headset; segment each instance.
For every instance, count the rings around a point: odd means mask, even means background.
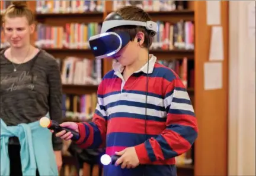
[[[105,1],[36,1],[39,14],[103,12],[104,8]]]

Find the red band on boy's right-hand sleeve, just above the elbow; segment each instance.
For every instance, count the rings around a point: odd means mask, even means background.
[[[194,131],[198,132],[197,119],[190,115],[177,115],[168,113],[167,115],[167,126],[171,124],[179,124],[183,126],[190,126]]]

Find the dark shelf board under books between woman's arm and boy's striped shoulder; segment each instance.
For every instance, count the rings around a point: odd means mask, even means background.
[[[65,94],[90,94],[97,93],[97,85],[75,85],[75,84],[63,84],[62,92]]]

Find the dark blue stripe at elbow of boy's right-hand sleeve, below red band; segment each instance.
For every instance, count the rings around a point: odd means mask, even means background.
[[[171,131],[179,133],[184,139],[186,139],[191,145],[194,144],[194,141],[197,138],[197,132],[194,131],[190,126],[172,124],[167,127]]]

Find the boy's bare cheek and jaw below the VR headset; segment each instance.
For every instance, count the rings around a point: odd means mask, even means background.
[[[137,38],[135,38],[111,58],[118,60],[122,66],[130,66],[139,57],[140,48],[137,44]]]

